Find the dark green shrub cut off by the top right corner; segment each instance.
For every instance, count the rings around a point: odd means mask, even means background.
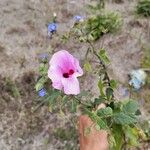
[[[137,14],[145,17],[150,16],[150,0],[141,0],[136,7]]]

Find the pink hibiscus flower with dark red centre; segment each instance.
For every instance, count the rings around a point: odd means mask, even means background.
[[[76,58],[66,50],[61,50],[52,56],[49,65],[48,77],[55,89],[63,89],[67,95],[80,93],[77,77],[83,75],[83,70]]]

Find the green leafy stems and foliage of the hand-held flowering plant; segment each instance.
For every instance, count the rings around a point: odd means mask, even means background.
[[[138,138],[141,137],[142,132],[138,126],[138,103],[131,99],[123,102],[115,99],[113,92],[116,88],[116,81],[110,79],[107,73],[109,58],[106,51],[104,49],[96,50],[89,40],[86,43],[89,45],[88,53],[94,55],[100,65],[99,97],[92,100],[91,97],[87,96],[88,91],[78,96],[69,96],[53,88],[47,88],[47,94],[43,101],[48,104],[50,111],[59,111],[62,115],[65,115],[68,111],[76,113],[80,106],[82,113],[87,114],[93,120],[97,130],[104,129],[108,131],[110,149],[121,150],[126,146],[138,146]],[[41,79],[43,79],[46,75],[44,74],[45,67],[44,65],[41,66],[43,68],[40,68],[42,70]],[[41,86],[41,79],[36,87]],[[42,83],[44,87],[46,87],[46,83],[45,81]],[[106,108],[97,110],[98,105],[102,103],[106,105]],[[90,131],[90,129],[85,130]]]

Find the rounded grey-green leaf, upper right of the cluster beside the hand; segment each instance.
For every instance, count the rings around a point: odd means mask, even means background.
[[[123,105],[123,112],[126,114],[135,114],[139,109],[139,105],[137,101],[129,100],[126,104]]]

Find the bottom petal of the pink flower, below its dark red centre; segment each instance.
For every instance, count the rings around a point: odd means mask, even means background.
[[[64,93],[67,95],[77,95],[80,93],[79,81],[75,76],[62,78]]]

